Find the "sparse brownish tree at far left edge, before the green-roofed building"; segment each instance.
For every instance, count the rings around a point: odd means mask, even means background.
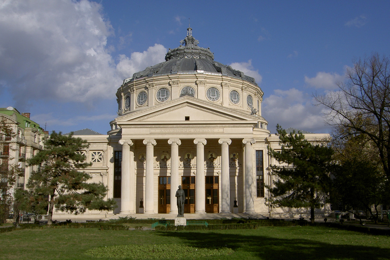
[[[12,190],[19,174],[17,165],[10,164],[13,157],[10,156],[12,148],[9,141],[14,137],[12,127],[2,118],[0,120],[0,223],[4,223],[11,212],[14,203]]]

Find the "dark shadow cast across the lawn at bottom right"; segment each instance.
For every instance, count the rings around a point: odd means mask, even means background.
[[[263,235],[239,235],[198,232],[158,232],[176,237],[194,247],[223,247],[249,252],[266,260],[279,259],[388,259],[390,249],[362,245],[334,245],[308,239],[280,239]],[[336,239],[336,238],[335,238]]]

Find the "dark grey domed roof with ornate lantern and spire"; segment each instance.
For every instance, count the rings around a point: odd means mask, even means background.
[[[175,49],[169,49],[165,56],[165,62],[158,63],[144,71],[133,74],[132,78],[123,83],[134,81],[143,77],[159,76],[161,74],[176,74],[180,72],[210,72],[220,73],[223,76],[241,78],[257,85],[254,78],[244,75],[243,72],[234,70],[230,66],[214,61],[214,54],[209,48],[199,47],[199,41],[192,37],[192,28],[187,28],[187,36],[180,41],[181,45]]]

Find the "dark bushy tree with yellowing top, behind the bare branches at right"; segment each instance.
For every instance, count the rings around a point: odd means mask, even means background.
[[[338,165],[333,173],[332,201],[351,213],[364,210],[377,222],[378,206],[388,202],[387,177],[372,140],[365,134],[340,135],[347,131],[339,125],[332,134],[331,145]],[[362,221],[360,214],[354,215]]]

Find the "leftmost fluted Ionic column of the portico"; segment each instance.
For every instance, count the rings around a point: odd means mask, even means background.
[[[130,150],[132,140],[119,140],[122,145],[122,181],[120,195],[120,214],[132,214],[135,212],[135,175],[134,152]]]

